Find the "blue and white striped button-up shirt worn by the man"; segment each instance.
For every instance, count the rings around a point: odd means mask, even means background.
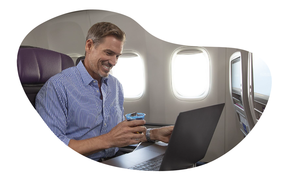
[[[66,145],[70,139],[84,140],[108,133],[125,120],[123,88],[109,74],[101,80],[103,100],[97,80],[82,62],[51,77],[36,96],[36,111],[49,129]],[[98,161],[115,155],[109,148],[87,156]]]

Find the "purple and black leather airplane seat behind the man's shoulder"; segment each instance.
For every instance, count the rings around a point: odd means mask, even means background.
[[[38,47],[20,46],[17,53],[17,72],[22,88],[35,108],[39,90],[52,76],[74,66],[68,55]]]

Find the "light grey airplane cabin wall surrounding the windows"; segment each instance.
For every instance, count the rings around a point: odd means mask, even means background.
[[[142,112],[146,114],[147,122],[175,124],[179,112],[226,103],[202,161],[212,162],[242,141],[243,135],[229,94],[228,63],[230,55],[236,50],[234,48],[203,47],[210,57],[210,91],[202,101],[189,102],[176,99],[171,88],[171,56],[177,48],[187,45],[161,40],[126,15],[106,10],[66,13],[38,25],[27,34],[21,45],[84,56],[87,32],[97,22],[111,22],[125,31],[123,50],[136,51],[143,60],[145,90],[141,99],[124,101],[125,114]],[[187,64],[185,70],[189,70]]]

